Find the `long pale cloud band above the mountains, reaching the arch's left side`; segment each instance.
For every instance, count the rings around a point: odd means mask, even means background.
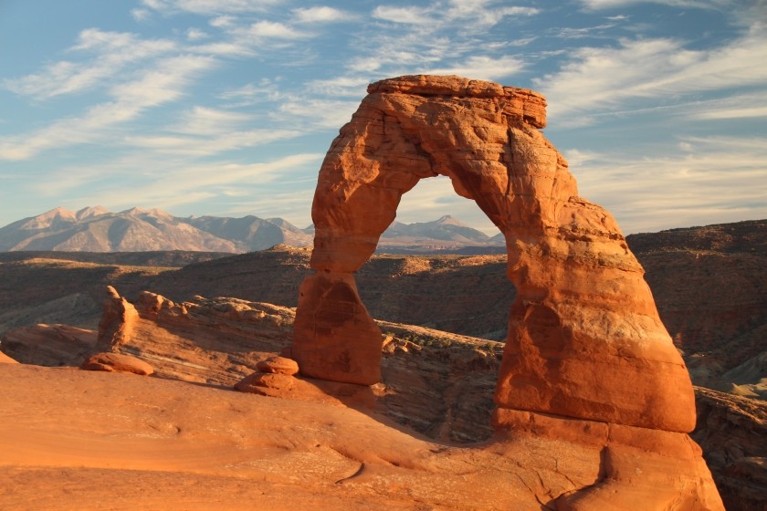
[[[173,210],[191,204],[186,214],[236,214],[238,209],[240,215],[278,215],[308,224],[323,157],[324,153],[305,152],[265,162],[196,163],[142,150],[109,162],[59,168],[35,190],[72,208],[100,203],[110,211],[133,206]],[[283,190],[286,181],[291,184]],[[248,200],[233,204],[233,190]],[[218,209],[210,211],[211,207]]]

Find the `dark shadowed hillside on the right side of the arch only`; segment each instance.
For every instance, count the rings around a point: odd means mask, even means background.
[[[767,221],[629,235],[693,382],[767,396]]]

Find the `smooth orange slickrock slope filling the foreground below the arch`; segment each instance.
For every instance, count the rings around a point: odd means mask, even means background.
[[[597,476],[599,454],[572,444],[438,444],[341,405],[181,381],[0,364],[0,389],[5,511],[540,510]]]

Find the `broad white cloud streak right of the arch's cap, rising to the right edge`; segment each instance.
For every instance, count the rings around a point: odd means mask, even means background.
[[[767,30],[754,24],[740,38],[709,50],[674,39],[623,39],[619,47],[573,51],[560,71],[535,79],[552,118],[613,110],[629,99],[664,99],[693,92],[767,85]]]

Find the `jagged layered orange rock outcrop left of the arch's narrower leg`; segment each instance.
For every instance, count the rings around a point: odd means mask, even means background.
[[[175,303],[149,291],[131,304],[113,288],[109,294],[98,349],[148,361],[163,378],[232,385],[287,345],[292,332],[293,311],[270,304],[226,297]]]

